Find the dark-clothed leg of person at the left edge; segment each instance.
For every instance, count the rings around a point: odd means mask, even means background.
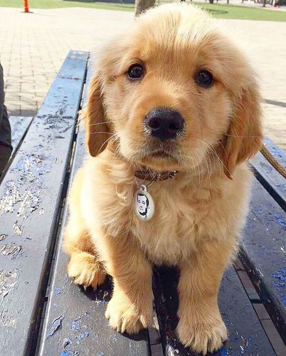
[[[0,177],[8,163],[11,152],[11,127],[8,120],[7,109],[4,105],[3,69],[0,63]]]

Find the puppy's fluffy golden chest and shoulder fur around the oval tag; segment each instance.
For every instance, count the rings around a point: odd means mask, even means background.
[[[113,164],[113,167],[116,167]],[[112,172],[100,158],[86,165],[82,211],[87,225],[114,239],[135,239],[155,264],[176,265],[198,248],[201,239],[235,239],[244,221],[247,186],[246,167],[238,170],[238,181],[213,177],[192,182],[187,174],[153,183],[148,189],[155,214],[141,221],[135,214],[134,193],[138,189],[128,167]],[[95,242],[100,243],[100,241]]]

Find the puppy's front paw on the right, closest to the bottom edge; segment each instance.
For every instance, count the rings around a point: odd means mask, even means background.
[[[221,316],[208,316],[200,321],[192,319],[192,315],[181,317],[177,334],[184,346],[203,355],[218,350],[227,339],[227,329]]]

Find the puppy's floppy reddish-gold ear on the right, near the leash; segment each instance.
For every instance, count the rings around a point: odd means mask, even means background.
[[[236,98],[234,113],[226,136],[224,171],[227,177],[235,167],[253,157],[261,148],[261,96],[256,83],[244,87]]]

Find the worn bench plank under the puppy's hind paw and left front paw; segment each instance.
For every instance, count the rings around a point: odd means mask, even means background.
[[[92,70],[89,70],[87,82],[91,73]],[[70,182],[82,165],[86,154],[84,136],[84,131],[80,129]],[[65,206],[63,226],[66,219],[67,207]],[[147,356],[149,345],[146,331],[130,337],[117,333],[108,325],[104,311],[106,302],[111,297],[110,281],[97,290],[88,289],[85,292],[83,288],[67,278],[68,256],[61,249],[61,240],[62,235],[56,253],[40,355]],[[60,328],[55,331],[59,322]]]

